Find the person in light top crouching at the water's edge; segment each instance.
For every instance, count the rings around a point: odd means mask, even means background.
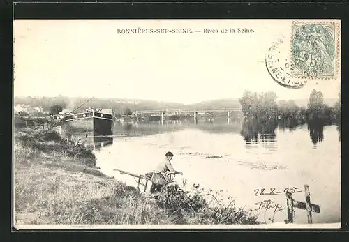
[[[182,172],[177,172],[173,169],[171,160],[173,158],[173,153],[168,152],[165,154],[165,160],[163,160],[158,167],[156,167],[156,172],[151,177],[151,188],[150,192],[158,192],[161,187],[172,183],[170,179],[170,174],[183,174]]]

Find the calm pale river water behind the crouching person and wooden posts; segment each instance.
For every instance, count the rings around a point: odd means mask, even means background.
[[[224,199],[230,196],[237,206],[259,214],[261,222],[284,221],[285,189],[305,202],[305,184],[311,202],[320,205],[313,222],[340,221],[341,142],[336,126],[182,120],[116,123],[115,134],[112,144],[95,150],[97,166],[130,186],[136,185],[133,177],[113,169],[145,174],[172,151],[174,169],[183,172],[175,178],[179,185],[186,179],[187,190],[195,183],[221,191]],[[263,195],[271,191],[276,195]],[[260,208],[258,202],[268,199],[281,211]],[[295,223],[306,221],[306,211],[295,209]]]

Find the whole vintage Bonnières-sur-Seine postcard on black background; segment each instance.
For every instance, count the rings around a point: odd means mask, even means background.
[[[14,20],[16,229],[340,228],[340,20]]]

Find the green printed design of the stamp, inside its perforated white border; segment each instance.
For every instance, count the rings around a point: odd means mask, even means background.
[[[335,45],[329,29],[322,24],[295,24],[292,33],[293,75],[311,78],[333,75]]]

